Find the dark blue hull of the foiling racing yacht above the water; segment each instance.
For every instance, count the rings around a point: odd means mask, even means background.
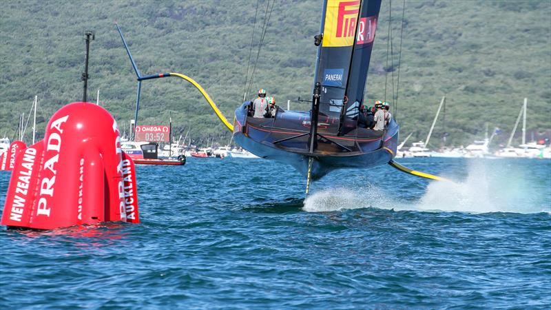
[[[236,110],[233,140],[256,156],[292,165],[304,176],[313,158],[314,180],[334,169],[384,165],[396,154],[399,126],[395,121],[385,132],[359,129],[339,136],[333,120],[320,118],[318,147],[309,152],[309,112],[279,110],[275,118],[251,118],[247,104]]]

